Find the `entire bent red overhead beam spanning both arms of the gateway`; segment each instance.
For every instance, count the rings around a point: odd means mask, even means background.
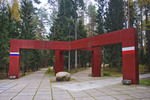
[[[49,50],[75,50],[92,51],[91,48],[124,43],[123,46],[134,46],[134,28],[119,30],[102,35],[97,35],[89,38],[84,38],[76,41],[39,41],[39,40],[11,40],[11,52],[19,51],[19,49],[49,49]],[[85,49],[84,49],[85,48]]]

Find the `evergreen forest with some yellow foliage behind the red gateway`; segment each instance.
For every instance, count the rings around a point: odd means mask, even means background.
[[[11,39],[74,41],[134,27],[139,67],[150,72],[150,0],[0,0],[0,79],[8,77]],[[122,71],[122,45],[101,47],[105,65]],[[20,70],[55,66],[54,50],[21,49]],[[65,51],[64,69],[91,67],[90,51]]]

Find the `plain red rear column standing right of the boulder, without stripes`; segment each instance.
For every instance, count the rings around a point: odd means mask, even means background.
[[[101,47],[94,47],[92,51],[92,76],[101,76]]]

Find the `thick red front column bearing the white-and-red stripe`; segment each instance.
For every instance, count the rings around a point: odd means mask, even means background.
[[[131,80],[132,84],[139,83],[139,59],[138,59],[138,39],[135,32],[134,39],[122,44],[123,56],[123,80]]]

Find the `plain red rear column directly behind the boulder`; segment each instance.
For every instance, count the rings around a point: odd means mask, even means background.
[[[55,74],[64,69],[64,52],[55,50]]]

